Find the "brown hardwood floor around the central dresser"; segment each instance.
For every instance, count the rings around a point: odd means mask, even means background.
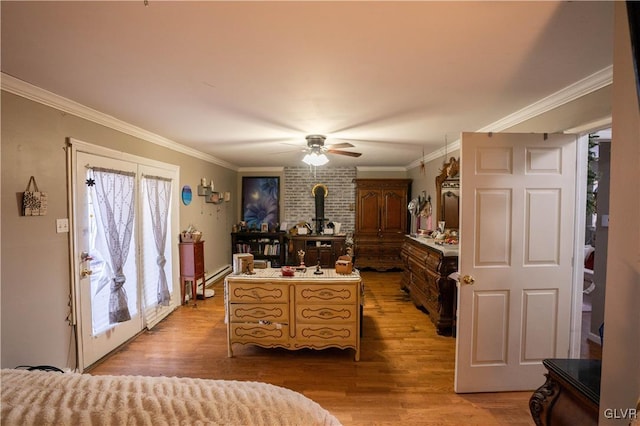
[[[227,357],[222,282],[95,366],[92,374],[253,380],[298,391],[344,425],[533,425],[532,392],[453,392],[455,339],[436,334],[400,290],[398,272],[362,272],[360,361],[351,349],[234,345]],[[540,384],[544,377],[540,377]]]

